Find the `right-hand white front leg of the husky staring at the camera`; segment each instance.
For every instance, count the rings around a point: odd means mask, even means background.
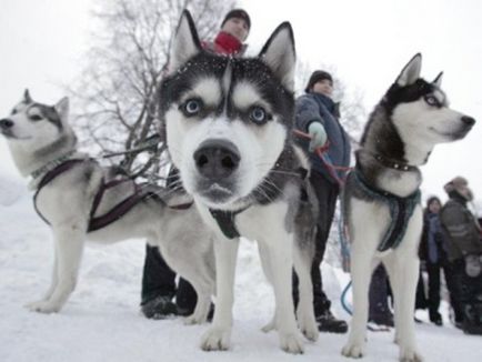
[[[268,245],[275,296],[275,325],[281,349],[289,353],[303,353],[303,342],[297,328],[292,298],[292,235],[284,234]],[[263,242],[259,240],[259,242]]]

